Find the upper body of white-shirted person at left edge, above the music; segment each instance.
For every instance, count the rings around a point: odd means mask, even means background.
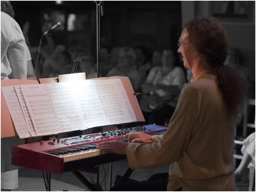
[[[36,79],[28,45],[14,15],[10,1],[1,1],[1,79]]]

